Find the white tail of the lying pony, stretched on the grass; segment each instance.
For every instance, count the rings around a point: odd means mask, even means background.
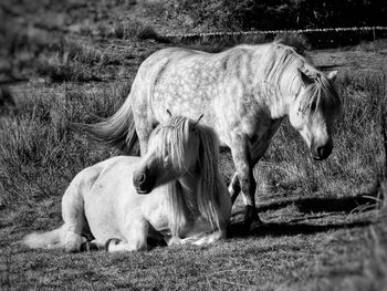
[[[57,228],[46,232],[32,232],[23,238],[23,243],[31,249],[52,249],[62,245],[63,229]]]

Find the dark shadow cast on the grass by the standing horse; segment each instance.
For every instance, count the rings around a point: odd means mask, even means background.
[[[264,222],[263,225],[251,229],[250,231],[244,231],[243,221],[238,221],[230,224],[228,227],[228,238],[238,237],[264,237],[264,236],[295,236],[295,235],[311,235],[318,232],[326,232],[330,230],[343,229],[343,228],[355,228],[365,227],[372,224],[372,220],[353,220],[345,219],[338,222],[321,222],[313,224],[306,220],[310,219],[323,219],[332,217],[332,214],[345,214],[349,215],[353,212],[367,212],[383,204],[384,196],[377,196],[370,194],[369,196],[356,195],[353,197],[342,197],[342,198],[324,198],[324,197],[312,197],[312,198],[297,198],[287,199],[282,201],[276,201],[268,205],[258,207],[259,212],[264,212],[268,210],[278,210],[281,208],[286,208],[287,206],[294,206],[300,211],[304,214],[301,218],[291,219],[286,222]],[[236,212],[238,215],[240,212]],[[318,214],[310,216],[312,214]]]

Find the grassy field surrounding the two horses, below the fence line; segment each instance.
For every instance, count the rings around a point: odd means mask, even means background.
[[[387,290],[380,124],[386,40],[306,51],[323,70],[338,70],[343,114],[334,153],[313,162],[285,122],[254,170],[264,226],[240,233],[237,200],[228,239],[215,246],[67,254],[18,241],[60,226],[61,197],[74,175],[118,154],[88,143],[70,123],[112,115],[154,51],[217,51],[230,43],[167,42],[157,31],[170,28],[155,27],[135,1],[41,4],[46,18],[28,3],[6,2],[11,17],[0,28],[1,290]],[[221,169],[228,180],[229,155],[221,156]]]

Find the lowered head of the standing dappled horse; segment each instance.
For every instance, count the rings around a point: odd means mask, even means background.
[[[333,148],[332,132],[341,102],[332,84],[336,72],[299,70],[300,90],[289,107],[292,126],[301,134],[314,159],[327,158]]]

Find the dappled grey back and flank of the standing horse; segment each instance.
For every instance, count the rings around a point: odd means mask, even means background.
[[[258,121],[269,118],[257,92],[265,90],[266,55],[279,45],[242,44],[219,53],[169,48],[151,54],[130,93],[140,142],[149,128],[169,118],[168,111],[192,119],[203,115],[201,123],[216,131],[222,146],[230,146],[240,127],[250,135]]]

